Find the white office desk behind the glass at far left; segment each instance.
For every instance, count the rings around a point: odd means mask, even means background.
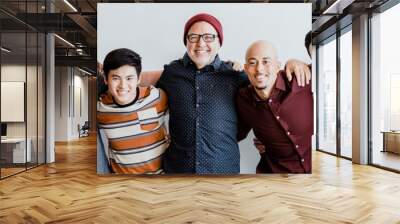
[[[25,138],[1,139],[1,157],[5,159],[7,163],[31,162],[32,141],[30,138],[27,138],[26,142],[28,143],[28,147],[26,147],[25,154]],[[27,159],[26,161],[25,158]]]

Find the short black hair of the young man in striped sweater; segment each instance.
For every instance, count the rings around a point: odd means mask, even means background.
[[[127,48],[119,48],[107,54],[103,63],[103,72],[105,78],[108,77],[110,70],[117,69],[124,65],[135,67],[138,78],[142,71],[142,59],[136,52]]]

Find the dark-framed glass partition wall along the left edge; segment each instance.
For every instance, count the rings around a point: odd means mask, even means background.
[[[0,2],[0,7],[15,10],[0,11],[0,178],[45,162],[46,40],[18,19],[26,12],[42,13],[43,5],[44,1]]]

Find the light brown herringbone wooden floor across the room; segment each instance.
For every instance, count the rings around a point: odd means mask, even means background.
[[[312,175],[96,174],[95,138],[0,181],[0,223],[400,223],[400,175],[320,152]]]

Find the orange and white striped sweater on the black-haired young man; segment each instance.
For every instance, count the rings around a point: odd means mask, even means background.
[[[110,94],[101,96],[97,123],[108,139],[106,155],[115,173],[162,173],[162,155],[169,144],[167,96],[153,86],[139,87],[138,93],[136,102],[126,107],[118,107]]]

